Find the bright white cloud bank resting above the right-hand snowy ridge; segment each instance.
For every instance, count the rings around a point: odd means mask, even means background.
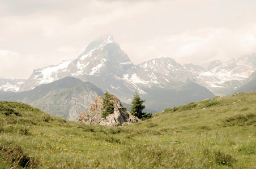
[[[151,41],[137,42],[143,50],[134,49],[134,56],[147,56],[141,60],[153,59],[156,56],[168,56],[181,64],[203,64],[211,60],[227,61],[256,51],[255,24],[248,24],[237,29],[200,28],[187,30],[180,34],[157,37]],[[150,44],[155,44],[151,50]],[[131,60],[135,60],[131,58]],[[138,59],[136,59],[138,60]]]

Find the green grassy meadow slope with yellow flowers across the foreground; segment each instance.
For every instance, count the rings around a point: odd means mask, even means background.
[[[0,102],[0,168],[252,168],[255,148],[256,92],[112,128]]]

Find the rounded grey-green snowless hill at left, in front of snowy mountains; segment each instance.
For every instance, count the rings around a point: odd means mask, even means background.
[[[96,97],[102,95],[103,91],[94,84],[66,77],[49,84],[41,84],[29,91],[2,91],[0,100],[31,104],[49,114],[76,121],[79,113],[86,112]]]

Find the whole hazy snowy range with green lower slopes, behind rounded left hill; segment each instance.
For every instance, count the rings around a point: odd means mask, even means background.
[[[91,42],[75,60],[36,69],[27,80],[0,79],[0,90],[24,92],[41,84],[75,77],[95,84],[102,91],[108,90],[122,103],[130,104],[137,91],[146,99],[146,108],[157,112],[215,95],[232,94],[245,85],[255,86],[249,80],[255,70],[255,54],[226,63],[215,60],[202,66],[181,65],[169,57],[135,65],[112,35],[105,34]]]

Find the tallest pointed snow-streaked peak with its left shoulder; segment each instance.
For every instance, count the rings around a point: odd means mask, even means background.
[[[50,83],[67,76],[89,81],[105,90],[106,85],[111,85],[105,82],[116,79],[114,75],[122,77],[122,74],[131,66],[133,64],[129,57],[117,43],[113,42],[112,35],[105,34],[91,42],[77,59],[34,70],[20,91],[31,90],[40,84]]]

